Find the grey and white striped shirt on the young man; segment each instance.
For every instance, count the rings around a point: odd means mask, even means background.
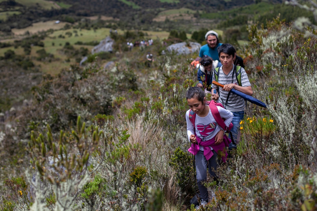
[[[234,65],[232,67],[232,70],[229,72],[228,75],[224,74],[222,71],[222,66],[219,67],[219,78],[218,82],[221,84],[231,84],[236,83],[239,84],[236,80],[236,71],[233,71]],[[232,77],[232,74],[233,77]],[[215,73],[213,73],[213,78],[215,78]],[[241,85],[243,87],[251,86],[249,78],[243,67],[241,67]],[[218,86],[212,84],[212,88],[218,89]],[[225,102],[227,100],[228,93],[227,91],[224,91],[221,87],[219,89],[219,99],[218,102],[222,103],[223,106],[225,106]],[[245,107],[244,99],[242,97],[239,97],[236,94],[230,93],[228,103],[226,106],[226,109],[231,112],[237,112],[237,111],[243,111]]]

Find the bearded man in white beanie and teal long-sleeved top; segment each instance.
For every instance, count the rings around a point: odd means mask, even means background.
[[[207,41],[206,45],[203,45],[199,51],[199,57],[203,58],[204,55],[210,56],[213,60],[219,60],[217,48],[222,45],[218,40],[218,33],[215,31],[208,31],[205,35]]]

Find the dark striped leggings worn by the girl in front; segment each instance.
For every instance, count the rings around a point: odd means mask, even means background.
[[[217,163],[217,152],[215,150],[212,150],[212,153],[214,155],[210,157],[209,164],[208,164],[208,172],[211,176],[216,178],[216,173],[214,170],[217,169],[218,163]],[[208,191],[207,188],[205,188],[202,183],[204,183],[207,180],[207,160],[206,157],[204,156],[204,151],[199,150],[195,156],[195,165],[196,165],[196,172],[197,172],[197,184],[198,184],[198,189],[200,193],[200,197],[204,201],[208,201]]]

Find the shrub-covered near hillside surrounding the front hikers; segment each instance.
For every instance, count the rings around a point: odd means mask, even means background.
[[[212,210],[317,206],[317,40],[279,18],[267,26],[250,26],[241,55],[254,96],[268,109],[248,104],[238,148],[217,171],[219,183],[206,183],[216,195],[207,205]],[[123,42],[129,33],[113,38]],[[1,176],[8,178],[1,206],[194,210],[184,114],[186,90],[197,77],[189,63],[197,54],[162,55],[164,48],[156,40],[108,68],[100,54],[85,67],[46,75],[33,88],[33,103],[0,134]],[[150,67],[147,51],[154,54]]]

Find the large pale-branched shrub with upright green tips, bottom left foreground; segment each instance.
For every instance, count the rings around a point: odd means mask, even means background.
[[[86,129],[80,117],[76,131],[60,132],[55,139],[49,125],[47,136],[31,132],[28,151],[31,155],[33,175],[29,182],[33,186],[34,204],[30,210],[76,210],[81,208],[77,197],[92,178],[99,165],[92,165],[89,157],[99,153],[105,140],[98,127]],[[55,199],[49,200],[50,196]],[[54,198],[53,197],[53,198]],[[51,202],[53,201],[53,202]]]

